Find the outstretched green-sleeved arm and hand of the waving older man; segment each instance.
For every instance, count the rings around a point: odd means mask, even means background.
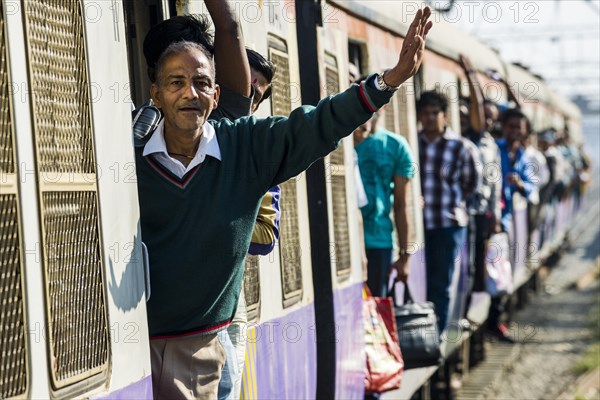
[[[396,72],[392,73],[397,79],[394,84],[402,83],[417,72],[423,59],[425,34],[430,28],[427,23],[430,13],[426,8],[415,17],[403,45],[406,56],[401,56]],[[410,42],[417,43],[419,50],[410,49],[414,46],[406,50]],[[316,107],[302,106],[293,110],[288,117],[251,117],[235,123],[219,121],[218,131],[222,132],[219,142],[228,140],[228,136],[234,140],[235,135],[237,148],[252,154],[246,171],[256,176],[266,191],[333,151],[340,139],[350,135],[390,101],[393,92],[379,90],[375,79],[376,76],[371,75],[360,85],[322,99]]]

